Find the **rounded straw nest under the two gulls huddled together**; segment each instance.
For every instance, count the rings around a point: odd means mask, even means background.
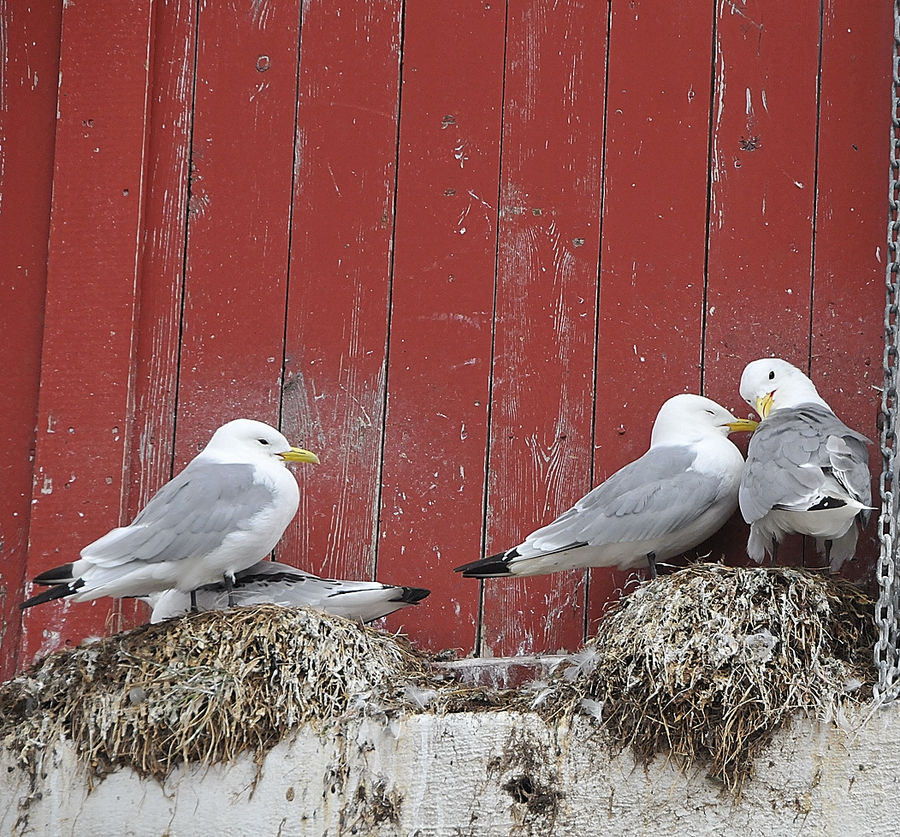
[[[695,565],[620,600],[555,672],[545,709],[580,708],[644,760],[670,753],[740,793],[792,717],[871,697],[872,613],[820,573]]]

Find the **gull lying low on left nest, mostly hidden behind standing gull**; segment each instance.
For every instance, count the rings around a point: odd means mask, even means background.
[[[372,622],[402,607],[418,604],[430,593],[421,587],[395,587],[377,581],[319,578],[278,561],[260,561],[234,574],[233,599],[237,605],[306,605],[333,616]],[[224,583],[207,584],[194,591],[196,610],[229,607]],[[152,623],[188,613],[191,594],[167,590],[144,597],[153,608]]]

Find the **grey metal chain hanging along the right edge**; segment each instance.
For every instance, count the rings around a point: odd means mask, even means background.
[[[875,623],[876,702],[900,696],[900,572],[898,572],[897,514],[894,502],[897,443],[898,353],[900,353],[900,0],[894,2],[894,55],[891,88],[891,168],[888,196],[887,268],[884,306],[884,389],[881,392],[881,514],[878,537],[878,604]],[[898,463],[900,464],[900,460]],[[900,480],[898,480],[900,482]]]

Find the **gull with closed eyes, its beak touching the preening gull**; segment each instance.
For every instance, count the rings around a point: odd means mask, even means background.
[[[754,430],[700,395],[660,407],[650,449],[513,549],[457,567],[468,578],[544,575],[576,567],[627,570],[681,555],[737,508],[744,459],[729,441]]]

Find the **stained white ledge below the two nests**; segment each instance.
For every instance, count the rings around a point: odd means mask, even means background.
[[[569,728],[482,712],[352,722],[323,737],[303,730],[268,754],[255,787],[245,757],[178,771],[164,786],[123,770],[89,793],[62,745],[27,810],[28,778],[2,755],[0,834],[897,834],[900,708],[847,726],[795,723],[758,760],[740,802],[702,773],[664,759],[645,770],[630,751],[611,753],[586,718]]]

